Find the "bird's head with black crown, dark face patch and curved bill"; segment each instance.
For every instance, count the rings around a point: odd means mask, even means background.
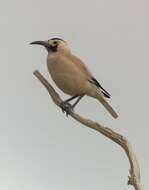
[[[31,42],[30,44],[42,45],[47,49],[48,53],[55,53],[55,52],[70,53],[70,49],[67,43],[60,38],[51,38],[50,40],[47,41],[34,41]]]

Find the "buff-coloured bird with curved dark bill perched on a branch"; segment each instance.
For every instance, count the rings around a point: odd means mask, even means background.
[[[74,109],[78,102],[87,95],[97,99],[113,118],[118,117],[107,101],[111,95],[101,86],[84,62],[72,53],[65,40],[55,37],[46,41],[34,41],[30,44],[41,45],[47,50],[47,68],[51,78],[61,91],[70,96],[61,104],[63,111],[70,106],[71,100],[77,98],[76,102],[71,105],[71,109]]]

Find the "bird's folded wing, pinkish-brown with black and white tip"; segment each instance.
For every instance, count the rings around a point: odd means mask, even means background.
[[[77,67],[86,75],[87,80],[91,82],[92,84],[96,85],[100,90],[102,91],[103,95],[106,98],[110,98],[111,95],[101,86],[101,84],[93,77],[89,69],[86,67],[86,65],[83,63],[82,60],[80,60],[78,57],[72,55],[71,60],[74,64],[77,65]]]

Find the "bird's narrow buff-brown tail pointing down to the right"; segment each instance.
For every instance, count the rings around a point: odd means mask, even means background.
[[[98,99],[100,101],[100,103],[102,103],[102,105],[106,108],[106,110],[116,119],[118,117],[118,114],[114,111],[114,109],[111,107],[111,105],[106,101],[105,97],[103,96],[103,94],[101,92],[97,92],[96,99]]]

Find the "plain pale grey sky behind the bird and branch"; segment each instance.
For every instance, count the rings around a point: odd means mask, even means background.
[[[120,116],[112,119],[88,97],[76,111],[130,140],[149,188],[147,7],[143,0],[1,0],[0,189],[132,188],[122,149],[66,118],[33,76],[38,69],[54,85],[47,52],[29,46],[52,37],[66,40],[86,62]]]

